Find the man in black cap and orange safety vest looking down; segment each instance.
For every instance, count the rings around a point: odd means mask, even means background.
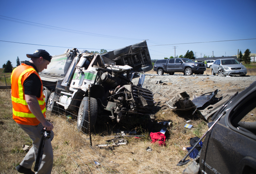
[[[40,131],[45,127],[51,131],[53,138],[53,125],[45,119],[45,100],[42,81],[38,72],[47,68],[52,56],[45,50],[38,49],[33,54],[27,54],[30,61],[25,61],[12,71],[11,74],[11,101],[13,120],[32,139],[32,148],[23,161],[16,166],[20,173],[34,174],[32,164],[38,153],[42,135]],[[45,140],[44,154],[37,174],[50,174],[53,167],[53,149],[51,140]]]

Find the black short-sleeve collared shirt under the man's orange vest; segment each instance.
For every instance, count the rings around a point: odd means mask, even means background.
[[[38,73],[37,68],[31,62],[25,61],[24,64],[32,66]],[[36,74],[32,73],[23,83],[24,94],[35,95],[37,98],[40,98],[41,86],[42,83],[40,78]]]

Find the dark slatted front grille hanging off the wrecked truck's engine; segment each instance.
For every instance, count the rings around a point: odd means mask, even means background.
[[[139,93],[146,100],[147,106],[142,105],[142,103],[139,99]],[[137,107],[152,109],[152,107],[154,106],[153,93],[150,90],[132,85],[132,95],[133,95],[133,99],[139,104]]]

